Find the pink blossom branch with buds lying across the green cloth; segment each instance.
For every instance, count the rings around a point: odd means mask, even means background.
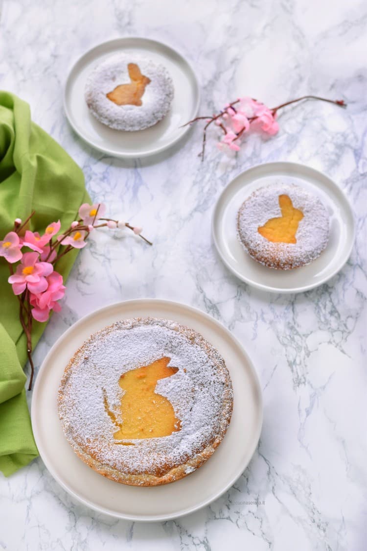
[[[79,209],[79,220],[72,222],[63,234],[57,235],[61,227],[58,220],[49,224],[45,233],[40,235],[37,231],[24,231],[35,214],[33,211],[24,222],[16,218],[14,230],[9,231],[0,241],[0,256],[4,257],[9,265],[8,282],[19,300],[19,319],[27,340],[27,355],[31,366],[28,390],[31,390],[34,378],[32,321],[46,322],[52,311],[59,312],[59,300],[65,294],[63,277],[54,269],[60,258],[73,249],[83,249],[89,234],[95,228],[128,228],[147,244],[152,245],[141,235],[141,228],[121,220],[102,218],[105,212],[106,207],[102,203],[84,203]],[[24,252],[24,248],[28,251]],[[19,263],[14,269],[17,262]]]

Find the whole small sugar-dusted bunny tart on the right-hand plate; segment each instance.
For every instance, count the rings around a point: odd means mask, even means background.
[[[328,241],[329,217],[320,199],[304,188],[275,183],[242,203],[237,235],[254,260],[288,270],[320,256]]]

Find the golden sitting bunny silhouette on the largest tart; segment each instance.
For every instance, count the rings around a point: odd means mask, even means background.
[[[121,398],[122,423],[107,405],[105,408],[112,422],[118,426],[115,440],[157,438],[169,436],[181,429],[171,402],[155,392],[157,381],[171,377],[178,368],[169,366],[171,358],[161,358],[150,365],[127,371],[120,376],[119,386],[124,391]]]

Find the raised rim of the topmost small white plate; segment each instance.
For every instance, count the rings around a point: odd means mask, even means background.
[[[190,63],[190,61],[181,53],[179,52],[178,50],[176,50],[176,48],[173,48],[172,46],[170,46],[169,44],[166,44],[166,42],[162,42],[160,40],[155,40],[155,39],[150,39],[150,38],[147,38],[145,36],[120,36],[120,37],[116,37],[114,39],[111,39],[111,40],[106,40],[105,42],[100,42],[98,44],[96,44],[95,46],[92,46],[91,48],[89,48],[89,50],[86,50],[84,53],[82,53],[78,59],[72,64],[72,66],[70,67],[69,69],[69,72],[68,72],[68,76],[67,76],[67,79],[65,80],[65,84],[64,84],[64,91],[63,91],[63,107],[64,107],[64,112],[65,112],[65,115],[68,119],[68,122],[70,124],[70,126],[73,128],[74,132],[76,134],[78,134],[78,136],[83,139],[83,141],[87,144],[89,144],[92,148],[96,149],[97,151],[100,151],[101,153],[106,153],[108,155],[111,155],[113,157],[116,157],[118,159],[137,159],[137,158],[144,158],[144,157],[149,157],[151,155],[157,155],[158,153],[161,153],[163,151],[165,151],[166,149],[168,148],[171,148],[174,144],[176,144],[180,139],[182,139],[184,137],[184,135],[189,131],[190,129],[190,125],[187,125],[185,127],[182,127],[182,132],[179,134],[179,136],[177,136],[176,138],[174,138],[171,142],[165,144],[165,145],[162,145],[161,147],[157,147],[157,148],[154,148],[154,149],[150,149],[149,151],[145,152],[145,153],[139,153],[139,152],[127,152],[127,153],[123,153],[123,152],[118,152],[114,149],[109,149],[109,148],[103,148],[101,147],[100,145],[94,143],[92,140],[90,140],[89,138],[86,138],[83,133],[81,133],[78,129],[78,127],[74,124],[73,122],[73,117],[72,115],[70,114],[69,112],[69,109],[68,109],[68,101],[67,101],[67,95],[68,95],[68,89],[69,89],[69,86],[70,86],[70,79],[72,79],[72,76],[74,74],[74,72],[76,71],[77,69],[77,66],[79,63],[83,62],[84,58],[88,55],[90,55],[91,52],[93,51],[98,51],[100,50],[101,48],[107,48],[108,46],[112,46],[113,44],[119,44],[119,43],[123,43],[124,41],[128,41],[128,40],[141,40],[141,41],[144,41],[144,42],[154,42],[155,44],[157,45],[160,45],[160,46],[163,46],[165,48],[167,48],[167,50],[171,50],[172,52],[174,52],[177,56],[179,56],[180,58],[182,58],[182,60],[187,64],[188,68],[190,69],[190,72],[191,72],[191,76],[193,77],[194,79],[194,82],[195,82],[195,87],[196,87],[196,103],[194,105],[194,109],[193,109],[193,117],[192,118],[195,118],[197,115],[198,115],[198,112],[199,112],[199,106],[200,106],[200,96],[201,96],[201,92],[200,92],[200,85],[199,85],[199,80],[198,80],[198,77],[194,71],[194,68],[193,68],[193,65]]]

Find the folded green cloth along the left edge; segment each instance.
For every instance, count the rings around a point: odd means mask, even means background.
[[[15,218],[43,233],[61,220],[68,228],[80,205],[88,202],[84,176],[60,145],[34,122],[29,105],[0,91],[0,240],[14,229]],[[57,271],[67,278],[77,251],[65,255]],[[26,338],[19,321],[19,302],[8,283],[9,267],[0,258],[0,471],[9,476],[38,455],[32,434],[24,384]],[[34,321],[32,346],[45,323]]]

